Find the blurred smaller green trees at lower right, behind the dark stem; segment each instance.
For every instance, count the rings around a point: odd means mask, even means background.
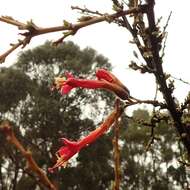
[[[122,189],[185,189],[190,173],[178,162],[182,147],[170,121],[156,125],[154,135],[158,140],[146,151],[151,127],[142,122],[149,123],[152,116],[150,111],[138,109],[132,118],[122,120]],[[127,131],[123,130],[125,126]]]

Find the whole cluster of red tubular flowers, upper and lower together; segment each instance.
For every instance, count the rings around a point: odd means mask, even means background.
[[[64,78],[56,78],[55,85],[58,90],[60,90],[61,94],[69,93],[73,88],[81,87],[81,88],[89,88],[89,89],[106,89],[114,92],[118,97],[122,100],[130,100],[129,90],[119,81],[119,79],[114,76],[112,73],[108,72],[105,69],[99,69],[96,72],[97,80],[89,80],[89,79],[77,79],[70,73],[65,73],[66,79]],[[61,141],[64,144],[57,152],[57,162],[56,164],[49,168],[50,172],[53,172],[54,169],[63,166],[65,167],[67,161],[78,153],[82,148],[91,144],[97,138],[99,138],[102,134],[104,134],[109,127],[114,123],[115,119],[119,117],[121,110],[118,107],[107,117],[107,119],[103,122],[103,124],[92,131],[89,135],[84,137],[79,141],[70,141],[66,138],[62,138]]]

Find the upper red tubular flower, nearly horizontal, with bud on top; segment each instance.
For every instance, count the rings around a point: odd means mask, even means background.
[[[106,89],[114,92],[118,97],[123,100],[128,100],[129,90],[120,82],[120,80],[105,69],[99,69],[96,72],[97,80],[90,79],[77,79],[70,73],[66,73],[66,80],[64,78],[56,78],[55,84],[61,94],[67,94],[76,87],[89,88],[89,89]]]

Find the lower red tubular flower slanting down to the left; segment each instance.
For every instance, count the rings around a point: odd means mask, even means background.
[[[99,138],[101,135],[103,135],[114,123],[115,119],[118,118],[121,114],[121,109],[115,109],[102,123],[100,127],[92,131],[89,135],[84,137],[83,139],[75,142],[75,141],[69,141],[65,138],[62,138],[62,142],[64,143],[64,146],[62,146],[57,152],[57,163],[49,168],[49,172],[53,172],[54,169],[63,166],[66,166],[67,161],[74,156],[76,153],[78,153],[82,148],[88,146],[92,142],[94,142],[97,138]]]

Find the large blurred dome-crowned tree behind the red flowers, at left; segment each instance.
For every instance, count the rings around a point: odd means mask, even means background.
[[[46,172],[55,163],[54,154],[61,146],[59,138],[77,140],[96,128],[113,100],[109,93],[80,89],[61,97],[51,92],[51,82],[65,71],[78,77],[94,75],[98,67],[110,69],[111,65],[91,48],[81,50],[72,42],[55,48],[46,42],[22,52],[13,67],[0,71],[1,120],[14,123],[19,140],[32,151]],[[100,102],[105,106],[98,110]],[[99,115],[97,120],[91,119],[93,115]],[[19,152],[5,143],[1,134],[1,189],[37,189],[35,176],[25,169]],[[111,149],[109,137],[104,137],[80,153],[77,168],[73,161],[65,170],[48,175],[60,189],[104,189],[113,179],[113,168],[109,164]]]

